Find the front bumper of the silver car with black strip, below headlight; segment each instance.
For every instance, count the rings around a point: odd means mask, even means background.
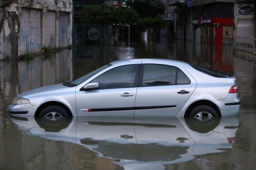
[[[12,116],[34,116],[37,105],[28,104],[10,105],[9,114]]]

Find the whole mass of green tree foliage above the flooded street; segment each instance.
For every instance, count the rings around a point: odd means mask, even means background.
[[[159,28],[165,26],[166,21],[160,17],[165,13],[166,7],[161,0],[128,0],[127,7],[114,5],[87,5],[81,12],[82,22],[90,25],[101,25],[104,32],[114,37],[117,26],[124,24],[136,24],[136,31],[139,35],[145,30],[152,34]],[[107,26],[112,26],[111,32]]]

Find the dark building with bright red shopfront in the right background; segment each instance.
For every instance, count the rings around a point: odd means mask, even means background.
[[[194,5],[188,7],[186,0],[169,0],[170,6],[175,6],[177,16],[176,37],[195,40],[200,28],[202,42],[222,45],[232,39],[233,34],[233,0],[194,0]]]

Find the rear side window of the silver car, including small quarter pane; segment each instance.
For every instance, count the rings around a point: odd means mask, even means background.
[[[179,68],[162,64],[143,64],[139,86],[166,86],[190,84],[189,78]]]

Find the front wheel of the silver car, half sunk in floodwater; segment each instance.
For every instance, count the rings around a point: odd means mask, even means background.
[[[60,117],[68,117],[69,113],[65,108],[53,105],[42,109],[38,116],[53,120]]]

